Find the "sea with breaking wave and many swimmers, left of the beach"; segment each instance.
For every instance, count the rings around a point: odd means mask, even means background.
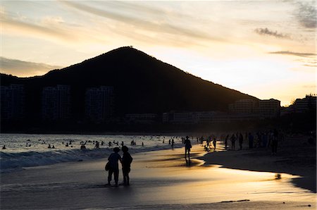
[[[70,134],[0,134],[1,173],[70,161],[86,161],[108,157],[114,147],[128,146],[129,152],[149,152],[182,147],[176,135],[70,135]],[[96,144],[99,142],[99,148]],[[111,142],[111,145],[109,144]],[[134,144],[132,145],[132,142]],[[86,149],[80,149],[85,144]],[[6,149],[3,149],[3,147]]]

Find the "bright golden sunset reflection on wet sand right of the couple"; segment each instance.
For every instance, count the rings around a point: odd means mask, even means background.
[[[195,159],[203,156],[203,147],[194,145],[192,164],[186,166],[183,148],[151,152],[151,159],[142,161],[144,171],[135,176],[151,177],[162,183],[148,196],[171,203],[206,203],[238,200],[251,201],[309,201],[315,202],[316,195],[299,187],[290,180],[299,178],[287,173],[271,173],[205,166],[204,161]],[[142,167],[142,166],[139,166]],[[163,185],[163,183],[168,184]],[[158,193],[163,192],[163,193]],[[191,198],[191,199],[184,199]]]

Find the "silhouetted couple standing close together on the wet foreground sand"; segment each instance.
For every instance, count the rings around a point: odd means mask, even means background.
[[[119,164],[118,161],[122,164],[122,172],[123,172],[123,185],[130,185],[130,167],[132,163],[132,156],[128,152],[128,147],[123,146],[122,152],[123,156],[121,158],[119,147],[113,148],[113,153],[108,157],[108,163],[106,164],[106,171],[108,171],[108,185],[110,185],[112,174],[114,176],[114,180],[116,186],[118,186],[118,179],[119,179]]]

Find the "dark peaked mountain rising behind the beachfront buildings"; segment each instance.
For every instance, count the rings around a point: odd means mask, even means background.
[[[39,119],[43,87],[70,85],[72,118],[85,116],[85,91],[113,86],[115,114],[168,111],[226,111],[238,99],[256,99],[198,78],[132,47],[120,47],[46,75],[17,78],[1,74],[1,85],[25,85],[28,118]]]

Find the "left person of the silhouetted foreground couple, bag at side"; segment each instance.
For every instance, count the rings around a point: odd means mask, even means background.
[[[120,156],[120,154],[118,154],[118,152],[120,152],[119,147],[115,147],[115,148],[113,148],[113,153],[108,157],[108,161],[109,161],[108,185],[110,185],[110,182],[112,179],[112,174],[113,174],[113,178],[115,180],[116,187],[118,186],[118,179],[119,179],[118,161],[120,161],[120,163],[122,163],[121,156]]]

